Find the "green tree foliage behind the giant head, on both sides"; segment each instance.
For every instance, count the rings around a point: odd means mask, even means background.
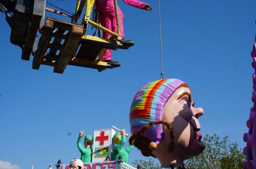
[[[202,140],[205,150],[197,157],[192,157],[184,161],[187,169],[238,169],[243,168],[245,155],[239,149],[237,143],[229,143],[228,136],[223,139],[217,134],[212,136],[206,134]],[[152,159],[134,160],[132,164],[137,167],[141,165],[142,169],[160,169],[161,166]]]

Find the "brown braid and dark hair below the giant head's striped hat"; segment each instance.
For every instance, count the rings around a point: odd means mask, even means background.
[[[152,125],[156,124],[164,124],[168,128],[170,132],[170,144],[169,144],[169,151],[174,150],[174,133],[173,133],[173,127],[168,121],[164,120],[157,120],[157,121],[151,121],[147,125],[144,125],[139,130],[137,130],[135,133],[132,134],[132,136],[129,138],[129,143],[131,145],[135,145],[139,150],[141,150],[142,155],[144,156],[153,156],[152,150],[157,149],[157,144],[155,142],[152,142],[150,139],[148,139],[145,136],[142,136],[144,131],[146,131],[148,128],[150,128]]]

